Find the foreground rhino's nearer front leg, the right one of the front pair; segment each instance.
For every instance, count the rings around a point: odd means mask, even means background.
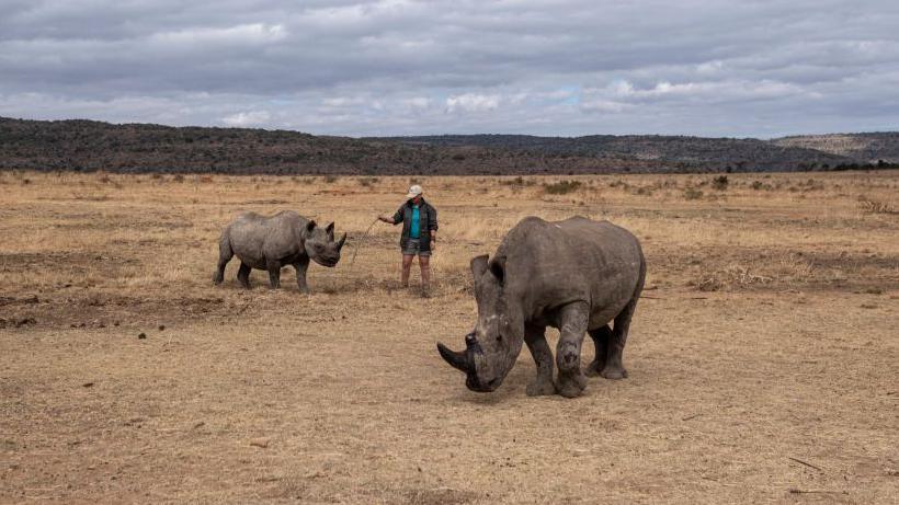
[[[581,344],[587,334],[590,309],[584,302],[569,303],[559,311],[559,343],[556,346],[556,366],[559,376],[556,392],[566,398],[580,397],[587,387],[581,372]]]

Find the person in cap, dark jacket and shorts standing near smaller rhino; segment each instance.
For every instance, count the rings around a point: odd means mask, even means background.
[[[419,256],[421,267],[421,295],[431,296],[431,253],[434,252],[437,239],[437,209],[424,200],[421,186],[409,188],[406,203],[392,216],[382,215],[379,220],[390,223],[402,223],[399,246],[402,252],[402,287],[409,287],[409,269],[412,259]]]

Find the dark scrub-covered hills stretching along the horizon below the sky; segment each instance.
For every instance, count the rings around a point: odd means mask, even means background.
[[[842,137],[849,138],[849,147],[834,148],[839,142],[815,140],[819,137],[772,141],[633,135],[350,138],[287,130],[0,117],[0,170],[573,174],[833,170],[870,160],[899,161],[895,157],[899,134]]]

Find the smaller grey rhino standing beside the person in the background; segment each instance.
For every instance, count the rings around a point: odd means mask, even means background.
[[[309,260],[319,265],[334,266],[340,261],[340,250],[346,233],[334,241],[334,223],[321,228],[316,221],[284,210],[272,217],[244,213],[221,230],[218,241],[218,268],[213,276],[215,284],[225,279],[225,265],[237,255],[240,269],[237,279],[250,288],[250,269],[269,272],[272,289],[281,286],[281,267],[293,265],[299,290],[309,292],[306,269]]]

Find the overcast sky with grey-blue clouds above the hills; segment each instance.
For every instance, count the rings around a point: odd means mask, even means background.
[[[897,0],[0,0],[0,116],[372,136],[899,129]]]

